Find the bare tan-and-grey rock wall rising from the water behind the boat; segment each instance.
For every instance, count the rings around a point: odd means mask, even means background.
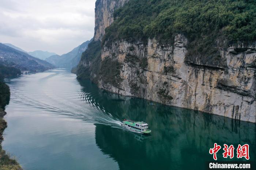
[[[143,43],[115,42],[104,46],[101,59],[121,63],[119,85],[99,80],[99,87],[176,107],[256,122],[255,45],[219,49],[221,61],[207,64],[186,58],[188,40],[175,37],[174,46],[155,39]],[[144,62],[144,63],[143,63]]]

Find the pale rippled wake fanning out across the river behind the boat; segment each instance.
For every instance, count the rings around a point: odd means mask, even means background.
[[[100,104],[98,88],[81,86],[75,75],[66,70],[23,75],[8,80],[7,84],[11,89],[11,102],[19,107],[122,128],[121,121]],[[86,88],[89,89],[84,90]]]

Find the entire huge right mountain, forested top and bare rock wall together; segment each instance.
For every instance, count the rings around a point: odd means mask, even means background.
[[[256,122],[256,5],[97,0],[76,74],[110,92]]]

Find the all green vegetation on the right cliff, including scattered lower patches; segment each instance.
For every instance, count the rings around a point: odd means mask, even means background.
[[[184,62],[223,66],[226,62],[220,47],[256,40],[255,11],[254,0],[129,0],[114,12],[114,22],[105,29],[102,45],[111,49],[121,40],[133,43],[124,62],[145,70],[147,58],[132,53],[136,42],[147,44],[149,38],[155,38],[160,44],[174,45],[175,36],[183,34],[189,42]],[[121,81],[121,64],[116,54],[102,61],[100,42],[90,43],[77,68],[78,78],[102,80],[112,85]],[[174,73],[173,66],[163,69],[163,74]],[[136,84],[132,87],[137,88]],[[171,98],[163,91],[158,94]]]

